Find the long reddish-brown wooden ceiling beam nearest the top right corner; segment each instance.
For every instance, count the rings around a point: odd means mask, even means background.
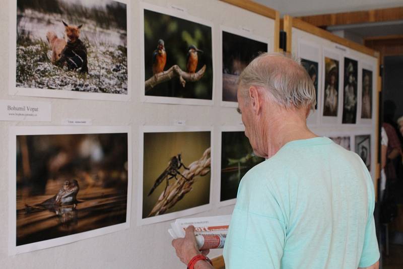
[[[403,7],[296,17],[317,27],[403,20]]]

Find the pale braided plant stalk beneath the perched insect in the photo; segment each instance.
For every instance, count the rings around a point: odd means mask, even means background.
[[[158,216],[165,213],[168,209],[175,206],[186,193],[191,191],[194,177],[205,176],[210,172],[210,154],[211,148],[208,148],[199,160],[192,162],[188,166],[189,170],[183,171],[183,177],[181,176],[173,184],[169,185],[165,191],[163,190],[153,210],[147,217]]]

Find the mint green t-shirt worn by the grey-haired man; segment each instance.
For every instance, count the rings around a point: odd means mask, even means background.
[[[374,203],[357,154],[328,138],[289,142],[242,178],[226,268],[370,266],[379,259]]]

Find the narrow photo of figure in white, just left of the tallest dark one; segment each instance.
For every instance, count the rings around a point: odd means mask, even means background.
[[[339,61],[324,57],[323,116],[337,117],[339,106]]]

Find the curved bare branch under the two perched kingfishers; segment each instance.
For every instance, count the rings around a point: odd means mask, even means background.
[[[167,71],[155,74],[154,76],[146,80],[145,82],[146,92],[153,89],[158,84],[172,80],[175,77],[178,77],[182,87],[185,87],[186,81],[189,82],[199,81],[204,76],[205,72],[206,72],[206,64],[203,65],[203,67],[196,73],[184,72],[183,70],[180,69],[178,65],[175,64],[171,66],[171,68],[168,69]]]

